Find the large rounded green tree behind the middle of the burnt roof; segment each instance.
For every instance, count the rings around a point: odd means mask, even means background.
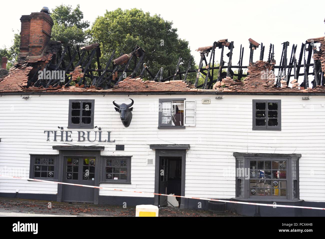
[[[115,57],[121,53],[130,53],[136,45],[142,47],[147,54],[147,63],[152,74],[156,75],[163,67],[163,77],[175,73],[178,58],[181,57],[180,70],[185,71],[188,59],[191,58],[188,42],[178,37],[173,22],[162,19],[160,15],[150,16],[141,9],[106,11],[93,23],[89,33],[92,41],[100,43],[101,62],[106,63],[111,52],[116,49]],[[194,62],[192,62],[194,66]]]

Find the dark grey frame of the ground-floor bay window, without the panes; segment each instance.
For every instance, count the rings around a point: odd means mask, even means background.
[[[242,201],[272,201],[272,202],[283,202],[283,201],[300,201],[299,199],[299,158],[301,154],[266,154],[266,153],[234,153],[236,157],[236,199]],[[245,177],[238,177],[238,162],[244,162],[244,168],[248,168],[250,171],[250,161],[287,161],[286,166],[286,181],[287,181],[287,196],[250,196],[250,179],[246,179]],[[296,178],[292,176],[292,166],[293,162],[296,162]],[[246,170],[245,170],[246,172]],[[243,195],[238,195],[238,179],[243,179]],[[273,179],[265,179],[265,180],[273,180]],[[296,197],[293,196],[293,181],[296,180]]]

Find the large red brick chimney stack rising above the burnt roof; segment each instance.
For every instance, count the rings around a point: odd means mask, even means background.
[[[45,12],[33,12],[20,18],[20,52],[39,56],[51,38],[53,20]]]

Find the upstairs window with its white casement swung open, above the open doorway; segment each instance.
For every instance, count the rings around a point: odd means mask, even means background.
[[[160,99],[158,128],[185,128],[185,126],[195,126],[195,101]]]

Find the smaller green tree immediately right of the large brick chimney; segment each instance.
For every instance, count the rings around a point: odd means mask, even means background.
[[[89,27],[89,21],[84,21],[84,14],[79,4],[72,9],[70,5],[60,5],[52,9],[50,14],[54,25],[52,27],[52,40],[63,41],[69,46],[83,45],[89,37],[85,29]]]

